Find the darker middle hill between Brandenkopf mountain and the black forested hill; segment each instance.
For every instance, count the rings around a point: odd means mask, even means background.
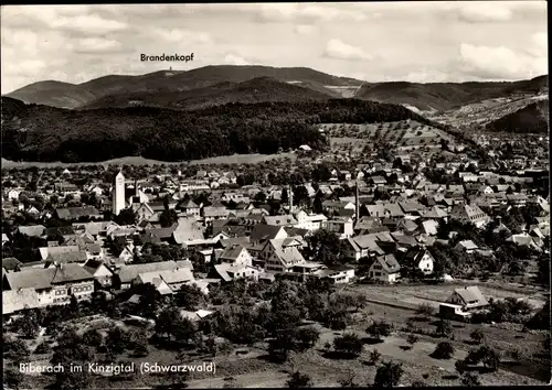
[[[224,82],[189,90],[108,95],[79,107],[79,109],[148,106],[197,110],[229,102],[327,100],[336,95],[338,94],[332,94],[331,90],[317,91],[314,88],[304,87],[302,84],[288,84],[272,77],[257,77],[242,83]]]

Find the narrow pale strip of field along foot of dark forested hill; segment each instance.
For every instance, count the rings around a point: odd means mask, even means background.
[[[264,161],[276,160],[289,158],[295,160],[296,154],[293,152],[288,153],[276,153],[276,154],[233,154],[233,155],[221,155],[216,158],[209,158],[202,160],[190,161],[191,165],[202,165],[202,164],[256,164]],[[56,166],[75,166],[75,165],[178,165],[185,163],[184,161],[167,162],[158,160],[149,160],[140,156],[129,156],[121,159],[114,159],[100,162],[87,162],[87,163],[62,163],[62,162],[14,162],[2,159],[2,167],[8,169],[24,169],[29,166],[38,167],[56,167]]]

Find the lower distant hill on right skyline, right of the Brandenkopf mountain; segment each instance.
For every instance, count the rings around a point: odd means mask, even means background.
[[[367,83],[357,98],[408,105],[423,111],[447,111],[512,94],[537,94],[543,88],[548,89],[548,76],[511,83]]]

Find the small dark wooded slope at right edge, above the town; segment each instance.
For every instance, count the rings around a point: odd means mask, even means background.
[[[514,133],[548,133],[549,100],[539,100],[486,126],[487,130]]]

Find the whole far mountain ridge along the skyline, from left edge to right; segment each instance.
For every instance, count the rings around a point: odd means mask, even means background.
[[[408,105],[422,111],[446,111],[478,100],[522,91],[534,93],[544,87],[548,88],[548,75],[518,82],[368,83],[350,77],[333,76],[308,67],[209,65],[190,71],[157,71],[136,76],[106,75],[81,84],[53,80],[38,82],[4,96],[24,102],[59,108],[82,109],[88,106],[97,108],[97,102],[102,101],[102,99],[109,100],[109,98],[106,98],[108,96],[114,96],[112,99],[117,100],[117,97],[125,94],[151,95],[191,90],[198,90],[203,96],[206,94],[204,88],[219,88],[220,86],[215,86],[221,83],[244,83],[259,77],[270,77],[288,84],[297,83],[296,86],[332,98],[354,97],[363,100]],[[340,95],[339,91],[330,87],[359,89],[346,96]],[[304,90],[304,93],[306,98],[311,95],[307,90]],[[163,100],[163,97],[160,97],[160,99]],[[233,101],[224,97],[221,97],[220,100],[222,104]],[[257,100],[251,95],[243,97],[244,102],[255,102]],[[96,101],[95,105],[94,101]]]

